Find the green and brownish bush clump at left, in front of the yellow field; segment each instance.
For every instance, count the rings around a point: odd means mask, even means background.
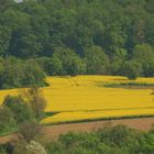
[[[44,118],[45,107],[46,101],[37,87],[25,90],[22,96],[7,96],[0,106],[0,135],[16,131],[23,123],[33,125],[31,121]]]

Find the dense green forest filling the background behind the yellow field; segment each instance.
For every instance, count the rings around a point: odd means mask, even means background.
[[[0,6],[0,64],[13,57],[12,66],[19,61],[30,65],[33,58],[47,75],[152,77],[153,8],[153,0],[6,0]],[[0,88],[30,84],[2,82]]]

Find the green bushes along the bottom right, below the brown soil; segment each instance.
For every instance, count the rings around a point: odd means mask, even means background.
[[[152,134],[143,142],[142,136],[142,133],[124,125],[106,125],[97,132],[69,132],[57,142],[48,143],[46,148],[48,154],[138,154],[146,153],[145,150],[152,153]],[[141,143],[146,143],[144,151]]]

